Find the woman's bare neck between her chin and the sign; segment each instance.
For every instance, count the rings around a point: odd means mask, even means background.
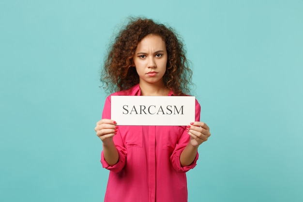
[[[143,96],[167,96],[169,89],[164,87],[164,83],[139,83],[141,95]]]

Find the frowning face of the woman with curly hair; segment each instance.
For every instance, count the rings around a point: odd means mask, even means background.
[[[166,44],[158,35],[147,35],[139,43],[134,55],[134,63],[140,84],[163,85],[166,72]]]

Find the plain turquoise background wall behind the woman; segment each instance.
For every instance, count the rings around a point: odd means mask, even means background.
[[[103,201],[99,71],[129,15],[193,64],[212,137],[189,202],[302,202],[303,0],[0,0],[0,201]]]

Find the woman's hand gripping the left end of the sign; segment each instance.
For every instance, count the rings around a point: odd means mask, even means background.
[[[118,125],[113,120],[101,119],[97,122],[95,131],[96,135],[102,140],[103,144],[113,143],[113,137],[117,134]]]

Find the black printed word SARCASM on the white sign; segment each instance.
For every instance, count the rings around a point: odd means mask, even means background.
[[[128,106],[123,105],[123,114],[183,114],[183,105],[179,108],[175,105],[167,105],[166,107],[156,107],[155,105],[145,106],[145,105],[138,105],[138,106]]]

